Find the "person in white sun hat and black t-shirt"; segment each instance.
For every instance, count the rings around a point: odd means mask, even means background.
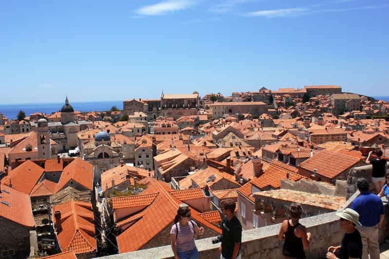
[[[342,244],[339,246],[330,246],[327,252],[329,259],[361,259],[362,258],[362,239],[356,226],[362,226],[359,220],[359,214],[353,209],[347,208],[336,212],[340,218],[340,228],[345,231]]]

